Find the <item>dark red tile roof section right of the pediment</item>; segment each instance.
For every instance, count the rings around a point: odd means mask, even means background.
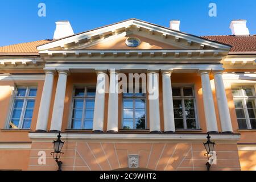
[[[234,35],[216,35],[201,36],[201,38],[214,40],[220,43],[232,46],[229,53],[256,53],[256,35],[234,36]]]

